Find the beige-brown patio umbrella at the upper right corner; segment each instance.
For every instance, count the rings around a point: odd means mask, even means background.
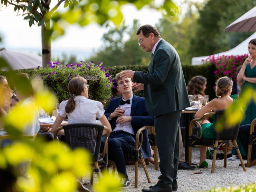
[[[225,28],[226,32],[256,32],[256,6]]]

